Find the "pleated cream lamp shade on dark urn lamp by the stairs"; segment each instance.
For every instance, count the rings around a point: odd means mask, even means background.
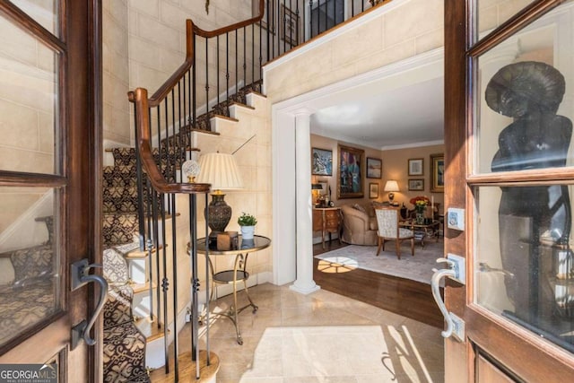
[[[199,157],[199,175],[196,182],[212,184],[212,190],[243,188],[239,167],[231,154],[205,153]]]

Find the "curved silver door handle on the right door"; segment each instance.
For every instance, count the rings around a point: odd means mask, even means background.
[[[447,328],[440,333],[442,337],[448,338],[451,335],[455,335],[455,337],[459,341],[465,340],[465,322],[458,318],[454,313],[449,312],[445,302],[440,297],[440,280],[445,277],[450,277],[455,279],[459,283],[465,283],[465,258],[458,257],[452,254],[448,254],[448,258],[439,258],[437,259],[438,263],[446,262],[448,268],[437,270],[433,268],[431,277],[431,290],[432,290],[432,297],[437,302],[437,306],[439,306],[440,312],[442,316],[445,318],[445,322],[447,322]]]

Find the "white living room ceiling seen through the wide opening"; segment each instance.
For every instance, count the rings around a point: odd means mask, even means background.
[[[408,83],[390,89],[365,84],[369,97],[317,109],[311,133],[379,150],[442,144],[444,77]]]

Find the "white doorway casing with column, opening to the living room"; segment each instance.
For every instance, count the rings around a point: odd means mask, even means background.
[[[272,106],[274,284],[295,281],[291,289],[302,293],[314,292],[318,288],[312,280],[310,140],[296,139],[299,136],[296,131],[309,129],[305,120],[309,120],[315,110],[373,97],[381,90],[389,91],[443,77],[443,57],[443,48],[433,49]],[[288,58],[280,59],[266,65],[264,83],[267,81],[266,71],[277,65],[289,65],[286,64],[288,61]],[[307,171],[308,174],[298,177],[298,171]]]

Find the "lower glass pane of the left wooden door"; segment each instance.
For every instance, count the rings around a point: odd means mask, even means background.
[[[0,347],[61,309],[59,198],[0,187]]]

